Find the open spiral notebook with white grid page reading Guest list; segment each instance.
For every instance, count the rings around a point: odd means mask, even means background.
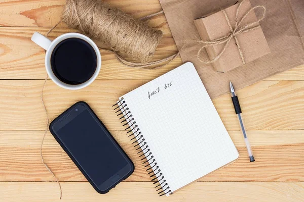
[[[121,96],[115,106],[160,195],[239,157],[192,63]]]

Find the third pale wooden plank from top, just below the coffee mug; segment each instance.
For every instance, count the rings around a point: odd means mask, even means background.
[[[111,107],[120,95],[147,80],[97,80],[82,90],[66,90],[47,81],[44,97],[50,119],[85,100],[110,130],[122,130]],[[42,80],[0,81],[0,130],[44,130],[46,115],[41,104]],[[248,130],[304,129],[304,81],[260,81],[238,91]],[[213,103],[228,130],[239,130],[231,97]],[[33,113],[34,112],[34,113]]]

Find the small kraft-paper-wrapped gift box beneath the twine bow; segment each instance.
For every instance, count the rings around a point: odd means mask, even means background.
[[[239,4],[240,3],[223,9],[233,30],[236,28],[236,13]],[[238,21],[240,21],[251,8],[252,6],[250,1],[245,0],[239,8]],[[195,26],[202,40],[213,41],[232,33],[223,11],[213,12],[194,20]],[[258,19],[256,18],[254,11],[252,11],[244,18],[238,29],[257,21]],[[254,30],[248,30],[236,35],[245,64],[270,53],[270,48],[259,24],[255,23],[248,28],[255,26],[258,27]],[[209,59],[212,60],[218,56],[223,50],[224,45],[225,43],[206,47]],[[232,37],[227,44],[221,57],[213,62],[212,65],[214,70],[218,72],[227,72],[244,65],[234,37]]]

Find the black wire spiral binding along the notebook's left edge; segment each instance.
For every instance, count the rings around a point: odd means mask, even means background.
[[[138,151],[137,154],[142,153],[139,157],[140,158],[143,157],[143,158],[140,160],[143,161],[142,164],[147,163],[147,165],[145,165],[144,168],[146,168],[150,165],[150,168],[146,169],[146,171],[150,170],[148,172],[148,174],[154,173],[153,175],[149,176],[150,178],[153,178],[153,179],[151,179],[151,181],[154,182],[153,184],[159,183],[155,187],[155,188],[159,187],[156,191],[163,189],[162,191],[158,192],[159,196],[166,195],[167,193],[172,193],[170,190],[170,186],[168,185],[168,182],[165,179],[165,176],[163,176],[161,169],[157,165],[157,161],[155,160],[152,151],[150,151],[149,145],[147,145],[147,142],[145,141],[143,135],[141,134],[141,131],[138,128],[138,125],[136,125],[135,118],[133,117],[131,111],[129,110],[128,104],[126,103],[124,98],[122,97],[112,107],[115,107],[115,106],[117,106],[114,109],[114,111],[117,110],[115,113],[119,113],[117,116],[122,116],[121,118],[119,118],[120,120],[123,119],[123,121],[121,121],[121,123],[126,122],[125,124],[123,124],[123,126],[129,126],[125,129],[125,130],[129,130],[127,132],[127,134],[130,133],[130,135],[128,137],[131,137],[132,135],[134,135],[134,137],[130,140],[131,141],[134,140],[132,142],[132,144],[135,144],[134,147],[137,147],[136,150],[140,149],[140,151]],[[143,144],[140,146],[141,143],[143,143]],[[151,161],[151,160],[152,160],[152,162],[149,163],[149,161]],[[154,164],[154,165],[152,165],[152,164]],[[160,178],[160,179],[158,180],[158,178]]]

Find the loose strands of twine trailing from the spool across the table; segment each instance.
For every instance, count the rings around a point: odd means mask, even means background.
[[[140,18],[140,20],[142,20],[142,21],[148,20],[148,19],[153,18],[154,16],[160,15],[162,13],[164,13],[164,11],[160,11],[160,12],[157,12],[157,13],[154,13],[154,14],[150,14],[148,16]],[[54,27],[52,27],[46,33],[45,36],[47,37],[53,31],[53,29],[55,29],[60,23],[61,23],[61,21],[59,21]],[[113,51],[112,49],[107,49],[107,48],[100,48],[100,49],[103,49],[103,50],[110,51],[110,52],[114,53],[115,56],[117,57],[117,59],[119,60],[119,62],[121,62],[124,65],[128,65],[128,66],[131,66],[131,67],[136,67],[136,68],[143,68],[143,69],[146,69],[146,68],[148,68],[148,69],[157,69],[157,68],[160,68],[160,67],[162,67],[164,65],[167,65],[167,64],[171,63],[176,57],[179,56],[179,53],[176,53],[176,54],[174,54],[174,55],[172,55],[170,57],[167,57],[165,59],[162,59],[162,60],[158,60],[158,61],[154,61],[154,62],[148,62],[148,63],[145,63],[145,64],[141,64],[141,63],[134,63],[134,62],[127,61],[125,58],[123,58],[122,56],[120,56],[116,51]],[[161,64],[161,63],[164,63],[164,62],[167,62],[167,63],[165,63],[164,65],[161,65],[161,66],[149,68],[151,66],[158,65],[158,64]],[[61,184],[59,182],[59,179],[56,177],[56,175],[54,174],[54,172],[49,168],[49,166],[45,162],[44,156],[43,156],[43,153],[42,153],[43,143],[44,143],[44,140],[46,138],[46,135],[47,135],[47,132],[48,132],[48,128],[49,128],[49,124],[50,124],[49,114],[48,114],[47,108],[45,106],[44,98],[43,98],[43,92],[44,92],[44,88],[45,88],[46,82],[48,80],[48,77],[49,76],[47,75],[46,78],[45,78],[43,87],[42,87],[42,91],[41,91],[41,103],[42,103],[43,109],[44,109],[44,111],[46,113],[47,124],[46,124],[46,129],[44,131],[44,136],[43,136],[43,139],[42,139],[42,142],[41,142],[41,145],[40,145],[40,156],[41,156],[42,163],[44,164],[44,166],[46,167],[46,169],[52,174],[52,176],[55,178],[56,182],[59,185],[59,188],[60,188],[60,199],[61,199],[62,198],[62,188],[61,188]]]

